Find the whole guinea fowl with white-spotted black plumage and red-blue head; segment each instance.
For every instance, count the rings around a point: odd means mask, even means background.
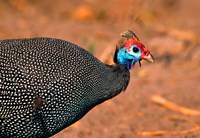
[[[0,137],[50,137],[124,91],[129,70],[153,57],[132,31],[114,65],[53,38],[0,41]]]

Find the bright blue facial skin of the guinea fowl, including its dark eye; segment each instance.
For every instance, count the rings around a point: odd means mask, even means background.
[[[130,70],[132,65],[141,59],[141,53],[142,51],[136,45],[132,45],[129,51],[126,47],[123,47],[117,53],[117,60]]]

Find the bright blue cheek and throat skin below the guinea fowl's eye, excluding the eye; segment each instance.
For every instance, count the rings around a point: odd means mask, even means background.
[[[125,66],[128,70],[130,70],[136,62],[140,60],[136,56],[131,55],[130,53],[125,52],[125,48],[122,48],[117,53],[117,61],[119,64]]]

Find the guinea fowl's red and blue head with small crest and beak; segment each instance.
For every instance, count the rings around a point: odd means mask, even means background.
[[[127,69],[131,69],[137,62],[139,62],[141,66],[141,60],[154,62],[154,58],[148,48],[140,42],[132,31],[128,30],[122,33],[121,36],[123,40],[116,48],[114,57],[115,63],[124,65]]]

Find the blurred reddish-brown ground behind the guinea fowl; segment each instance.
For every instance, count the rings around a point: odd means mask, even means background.
[[[0,0],[0,39],[61,38],[112,64],[120,33],[133,30],[155,64],[136,65],[125,92],[52,138],[198,138],[199,5],[199,0]]]

